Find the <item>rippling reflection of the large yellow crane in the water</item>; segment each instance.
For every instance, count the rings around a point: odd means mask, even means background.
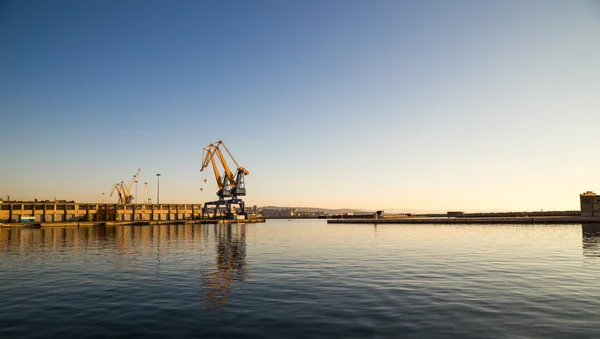
[[[210,227],[207,225],[207,228]],[[246,225],[218,224],[214,227],[215,267],[202,269],[208,307],[218,309],[246,279]]]

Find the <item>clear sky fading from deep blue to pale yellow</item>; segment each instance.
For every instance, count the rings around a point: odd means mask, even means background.
[[[600,193],[600,2],[2,1],[0,196],[577,210]],[[207,178],[207,183],[203,179]],[[201,191],[200,188],[203,188]],[[104,195],[103,195],[104,193]]]

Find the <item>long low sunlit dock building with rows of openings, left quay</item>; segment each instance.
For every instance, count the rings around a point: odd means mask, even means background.
[[[80,204],[4,202],[0,222],[161,221],[192,220],[202,215],[201,204]]]

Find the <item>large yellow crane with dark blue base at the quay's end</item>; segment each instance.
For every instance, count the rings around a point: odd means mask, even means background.
[[[236,166],[235,173],[230,170],[221,148],[225,149],[231,160],[233,160],[233,163]],[[224,172],[222,176],[219,173],[217,161],[223,168]],[[217,186],[219,188],[219,191],[217,191],[219,200],[209,201],[204,204],[204,207],[202,208],[203,217],[211,217],[209,213],[210,206],[214,206],[212,217],[217,217],[217,215],[221,213],[221,206],[227,208],[227,216],[232,216],[234,212],[232,205],[239,205],[241,215],[245,216],[246,212],[244,211],[244,202],[238,197],[246,195],[246,184],[244,182],[244,177],[250,174],[248,170],[237,163],[227,146],[225,146],[223,141],[220,140],[213,142],[202,149],[202,168],[200,168],[200,172],[210,165],[213,167],[215,180],[217,181]],[[226,198],[230,199],[225,200]]]

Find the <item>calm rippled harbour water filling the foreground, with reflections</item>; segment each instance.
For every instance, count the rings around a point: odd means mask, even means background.
[[[0,229],[0,338],[600,338],[591,226]]]

